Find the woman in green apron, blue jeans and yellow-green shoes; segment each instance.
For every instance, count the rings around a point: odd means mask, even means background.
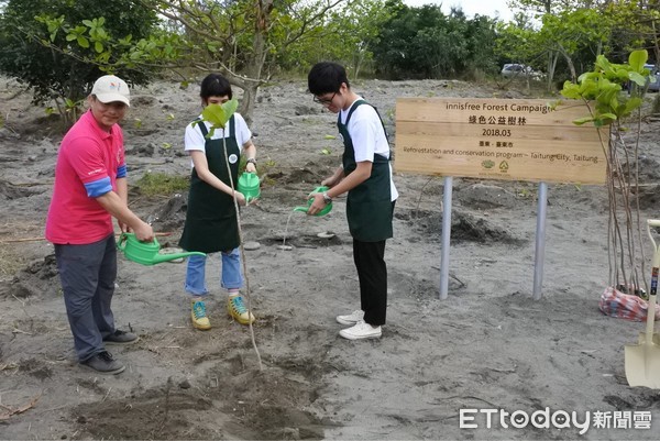
[[[231,100],[231,85],[223,76],[210,74],[201,81],[200,97],[202,107],[221,104]],[[207,137],[210,126],[200,117],[186,128],[185,148],[190,155],[193,172],[179,246],[207,254],[220,252],[220,283],[228,290],[227,311],[239,323],[249,324],[254,321],[254,316],[245,308],[240,295],[243,274],[233,198],[240,206],[246,201],[244,195],[232,190],[231,184],[234,188],[238,186],[241,154],[248,157],[245,170],[256,172],[256,147],[252,143],[252,132],[240,113],[233,113],[224,129],[216,129],[213,135]],[[186,293],[190,295],[193,327],[200,330],[211,328],[205,304],[208,295],[206,261],[206,256],[188,257],[185,283]]]

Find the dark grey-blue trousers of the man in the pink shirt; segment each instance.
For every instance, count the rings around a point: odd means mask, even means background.
[[[114,234],[86,245],[56,244],[55,258],[76,354],[84,362],[103,352],[103,338],[114,332]]]

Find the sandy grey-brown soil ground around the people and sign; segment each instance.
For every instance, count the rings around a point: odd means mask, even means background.
[[[393,133],[397,97],[524,96],[461,81],[370,80],[354,89]],[[128,365],[123,374],[81,370],[53,246],[18,241],[43,235],[62,136],[20,90],[0,82],[0,439],[660,438],[660,395],[629,387],[624,373],[624,345],[642,324],[598,310],[608,279],[601,186],[550,185],[536,301],[536,184],[455,179],[450,295],[441,301],[442,180],[397,173],[388,323],[381,340],[341,339],[334,316],[359,307],[345,202],[323,218],[292,209],[339,164],[342,147],[327,136],[337,134],[334,117],[301,81],[265,87],[252,123],[264,184],[260,202],[242,210],[242,228],[260,244],[245,251],[260,357],[249,328],[226,316],[217,277],[209,277],[213,328],[199,332],[189,324],[184,264],[120,256],[113,309],[118,326],[141,340],[110,349]],[[134,90],[124,122],[132,184],[147,172],[188,174],[183,131],[200,110],[197,93],[166,82]],[[642,211],[651,218],[660,217],[658,128],[641,128],[650,188]],[[185,195],[147,198],[134,188],[131,207],[173,233],[161,238],[164,246],[177,243]],[[278,247],[285,235],[290,251]],[[218,257],[212,265],[217,273]],[[461,427],[461,409],[481,409],[463,420],[476,427]],[[497,411],[491,427],[488,409]],[[547,412],[552,423],[518,419],[525,427],[516,428],[501,421],[505,411]],[[564,421],[571,412],[588,430]],[[605,428],[594,427],[596,412],[609,418]],[[650,428],[626,428],[631,415],[650,415]]]

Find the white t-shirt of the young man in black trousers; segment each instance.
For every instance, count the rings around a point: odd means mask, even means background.
[[[361,99],[362,97],[358,97],[355,102]],[[348,110],[340,110],[339,118],[342,124],[345,124],[346,118],[353,106],[355,106],[354,102]],[[358,107],[358,109],[355,109],[351,115],[351,120],[349,121],[349,126],[346,129],[351,134],[351,141],[353,141],[353,151],[355,152],[356,163],[364,161],[373,163],[374,155],[381,155],[389,159],[389,143],[385,136],[385,131],[383,130],[383,124],[381,123],[378,113],[373,107]],[[392,195],[392,200],[396,200],[398,198],[398,191],[396,190],[394,180],[392,179],[392,162],[389,162],[388,166],[389,191]]]

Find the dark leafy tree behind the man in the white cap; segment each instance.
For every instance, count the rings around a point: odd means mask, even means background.
[[[102,30],[98,19],[92,21],[101,16]],[[84,35],[84,20],[89,21],[86,30],[97,27],[96,44]],[[44,24],[47,21],[57,22],[59,27],[48,27]],[[55,99],[66,117],[65,110],[73,110],[73,103],[82,99],[94,81],[109,70],[88,63],[86,54],[102,52],[105,40],[148,35],[156,23],[153,10],[131,0],[8,0],[0,16],[0,71],[32,89],[35,102]],[[61,32],[62,29],[70,32]],[[111,65],[113,58],[106,62]],[[129,67],[114,73],[132,84],[148,79],[144,70]]]

